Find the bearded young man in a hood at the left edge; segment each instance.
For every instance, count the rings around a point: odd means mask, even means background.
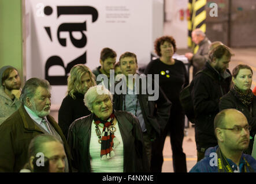
[[[20,76],[16,68],[4,66],[0,69],[0,125],[21,105],[14,95],[14,90],[20,90]]]

